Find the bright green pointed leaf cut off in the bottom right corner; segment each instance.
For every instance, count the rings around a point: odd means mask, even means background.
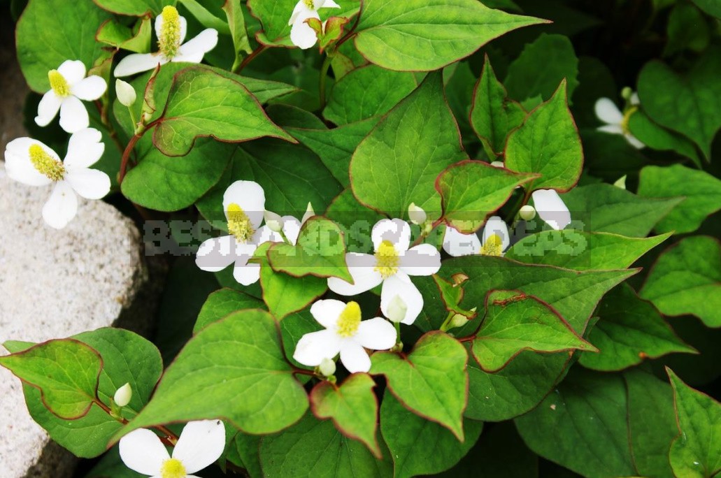
[[[712,477],[721,470],[721,404],[691,389],[666,368],[673,387],[678,431],[668,459],[676,477]]]

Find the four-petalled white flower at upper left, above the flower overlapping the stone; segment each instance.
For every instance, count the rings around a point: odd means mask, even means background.
[[[85,78],[85,65],[79,60],[63,61],[57,70],[48,71],[50,90],[43,94],[37,105],[35,123],[47,126],[58,115],[60,125],[68,133],[87,128],[90,125],[88,112],[80,101],[92,101],[102,97],[107,89],[105,80],[92,75]]]

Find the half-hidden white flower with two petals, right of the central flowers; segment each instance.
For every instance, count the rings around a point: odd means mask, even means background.
[[[454,257],[466,255],[503,256],[510,245],[508,225],[499,216],[491,216],[483,227],[483,240],[476,234],[461,234],[451,226],[443,236],[443,250]]]

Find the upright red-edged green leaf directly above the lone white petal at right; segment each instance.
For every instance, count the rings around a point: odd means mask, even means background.
[[[573,122],[566,83],[561,82],[553,97],[541,104],[508,137],[505,167],[518,172],[534,172],[541,178],[533,189],[570,190],[580,178],[583,151]]]

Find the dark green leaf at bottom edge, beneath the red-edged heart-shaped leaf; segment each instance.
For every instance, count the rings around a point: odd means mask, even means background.
[[[381,404],[381,433],[391,451],[395,478],[435,474],[454,466],[478,440],[483,422],[464,420],[462,443],[438,423],[425,420],[386,392]]]

